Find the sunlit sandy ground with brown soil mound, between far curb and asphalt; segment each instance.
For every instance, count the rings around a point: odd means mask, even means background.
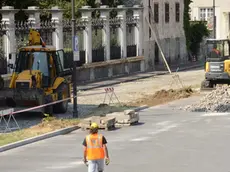
[[[178,75],[186,89],[191,87],[194,91],[196,91],[199,90],[200,83],[204,79],[204,70],[194,69],[182,71],[178,72]],[[188,93],[186,90],[177,91],[176,94],[175,92],[173,94],[165,92],[164,90],[180,89],[180,85],[176,83],[170,86],[172,81],[172,76],[165,74],[155,75],[153,77],[137,81],[121,83],[111,87],[114,87],[114,91],[123,105],[140,106],[147,104],[149,106],[154,106],[174,99],[188,97],[188,95],[190,95],[191,92]],[[104,89],[105,87],[80,92],[78,103],[80,105],[98,106],[103,103],[105,94]],[[157,96],[154,95],[156,92],[158,92]],[[113,100],[116,102],[115,97]]]

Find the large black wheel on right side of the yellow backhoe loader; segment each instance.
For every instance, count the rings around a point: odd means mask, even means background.
[[[57,89],[56,92],[58,93],[58,100],[63,100],[69,97],[69,88],[68,85],[62,83]],[[53,106],[54,113],[66,113],[68,109],[68,100],[57,103]]]

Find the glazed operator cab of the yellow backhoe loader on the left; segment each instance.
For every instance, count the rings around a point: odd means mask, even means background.
[[[32,48],[34,50],[31,51]],[[54,47],[25,47],[18,54],[15,72],[40,71],[42,82],[38,87],[50,87],[55,77],[63,72],[60,51],[56,51]]]

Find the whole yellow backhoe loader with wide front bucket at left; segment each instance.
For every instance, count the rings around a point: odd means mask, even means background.
[[[1,86],[0,106],[21,110],[69,98],[71,81],[65,77],[72,70],[63,70],[60,60],[63,55],[63,50],[45,45],[39,32],[31,29],[29,45],[20,48],[15,64],[9,65],[14,72],[9,86]],[[68,101],[64,101],[33,111],[65,113],[67,108]]]

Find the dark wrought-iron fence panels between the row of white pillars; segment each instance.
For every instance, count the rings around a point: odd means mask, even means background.
[[[119,28],[121,20],[117,17],[110,18],[110,59],[121,58],[121,45],[119,42]],[[136,56],[135,34],[134,27],[136,21],[133,17],[127,18],[127,57]],[[38,31],[47,45],[53,45],[53,33],[55,32],[55,21],[46,20],[40,21]],[[85,64],[85,45],[84,45],[84,30],[87,22],[82,19],[76,20],[76,33],[79,37],[80,61],[77,61],[77,66]],[[71,20],[63,20],[63,46],[64,46],[64,68],[73,66],[73,51],[72,51],[72,23]],[[18,53],[18,50],[28,45],[28,35],[30,28],[33,28],[32,21],[15,21],[15,49],[13,52]],[[92,62],[105,61],[105,41],[103,41],[103,29],[105,27],[104,20],[101,18],[92,19]],[[7,73],[6,54],[4,54],[3,35],[6,34],[4,24],[0,22],[0,74]]]

